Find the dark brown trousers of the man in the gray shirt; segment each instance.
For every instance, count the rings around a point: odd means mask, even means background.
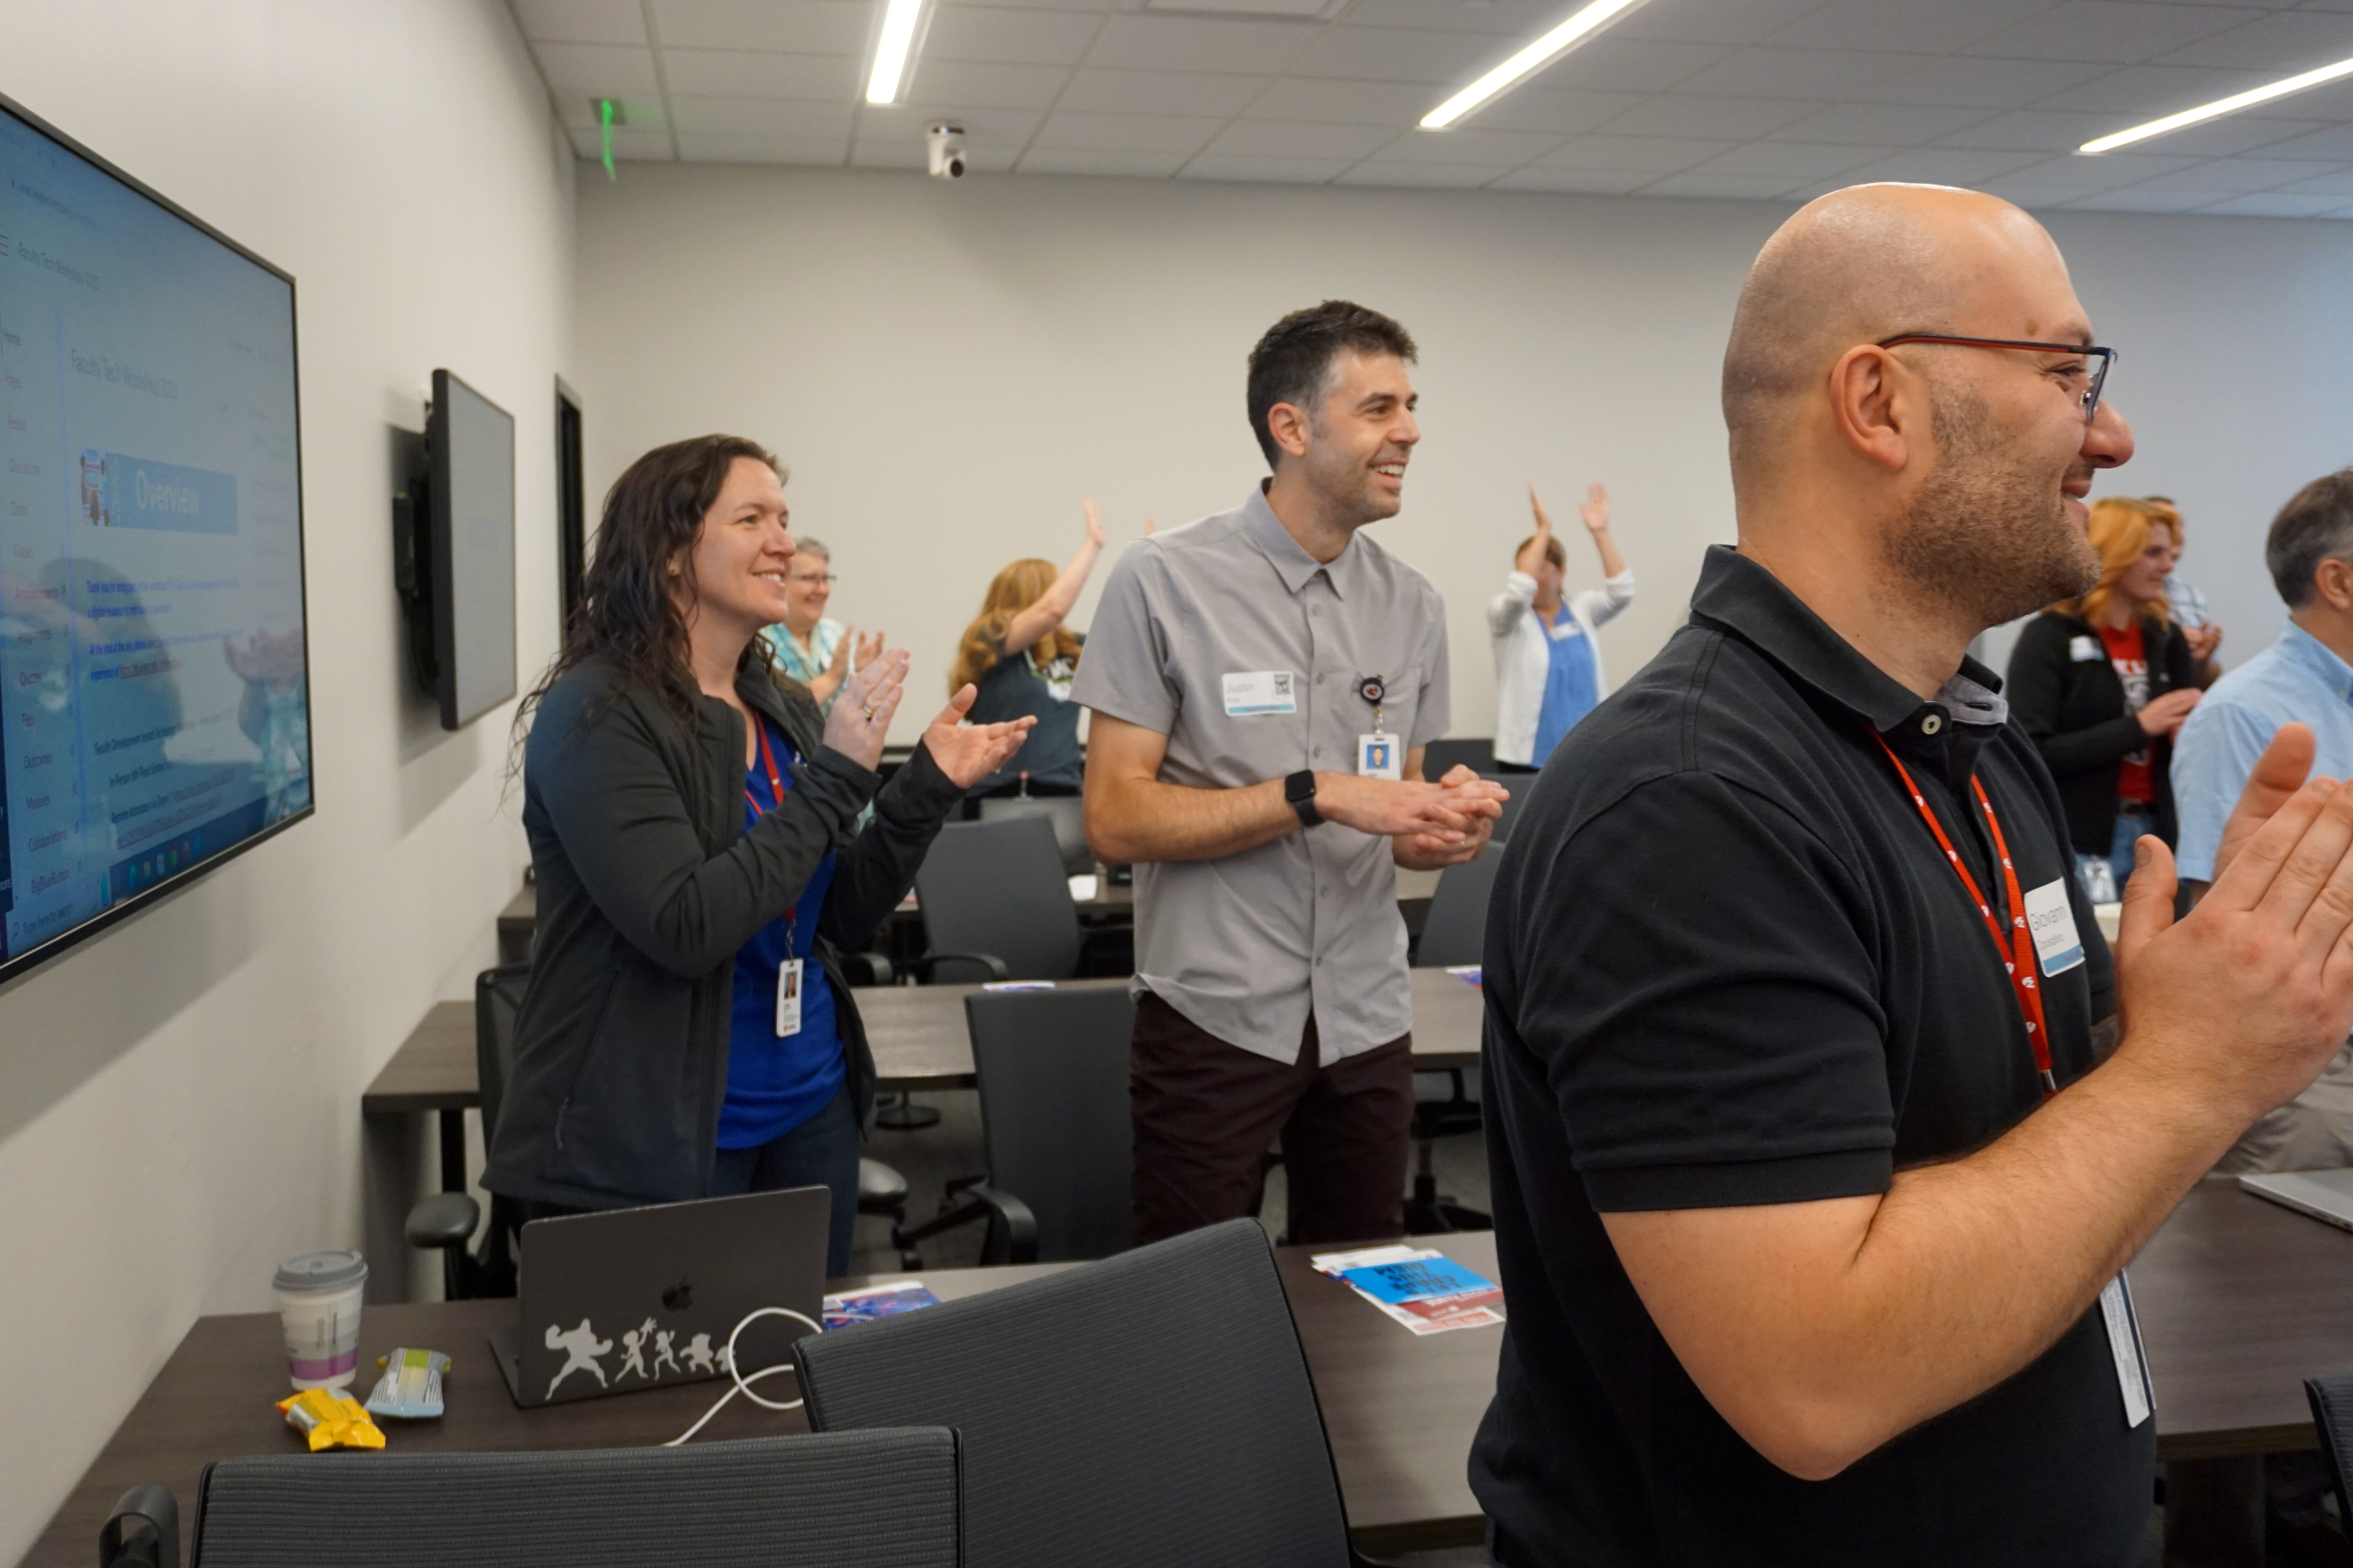
[[[1294,1244],[1402,1234],[1412,1039],[1318,1067],[1308,1016],[1299,1060],[1278,1063],[1228,1046],[1146,992],[1127,1067],[1136,1244],[1247,1215],[1278,1133]]]

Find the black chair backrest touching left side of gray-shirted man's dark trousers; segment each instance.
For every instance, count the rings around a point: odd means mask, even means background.
[[[988,1182],[1038,1218],[1038,1262],[1127,1251],[1127,1044],[1136,1032],[1127,987],[972,992],[965,1025]]]

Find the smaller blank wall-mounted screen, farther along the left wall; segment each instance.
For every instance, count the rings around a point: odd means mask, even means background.
[[[426,451],[433,696],[456,729],[515,696],[515,416],[438,369]]]

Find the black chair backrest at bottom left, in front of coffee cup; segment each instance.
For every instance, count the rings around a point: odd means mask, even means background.
[[[475,1389],[485,1394],[485,1389]],[[205,1472],[205,1568],[955,1568],[958,1441],[278,1453]]]

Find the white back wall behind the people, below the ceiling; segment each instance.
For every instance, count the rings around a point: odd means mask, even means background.
[[[1480,607],[1553,503],[1600,477],[1642,597],[1614,677],[1685,618],[1729,538],[1715,381],[1739,280],[1784,207],[1176,181],[626,165],[579,212],[588,487],[638,451],[734,430],[793,465],[835,548],[833,614],[915,656],[896,741],[946,693],[953,639],[1016,555],[1061,559],[1078,498],[1113,536],[1235,505],[1264,473],[1242,360],[1289,308],[1351,296],[1421,343],[1424,442],[1377,529],[1447,595],[1454,733],[1494,733]],[[2054,214],[2141,458],[2104,487],[2177,496],[2186,571],[2245,656],[2278,625],[2261,529],[2353,461],[2353,228]],[[1075,625],[1087,623],[1089,599]]]

